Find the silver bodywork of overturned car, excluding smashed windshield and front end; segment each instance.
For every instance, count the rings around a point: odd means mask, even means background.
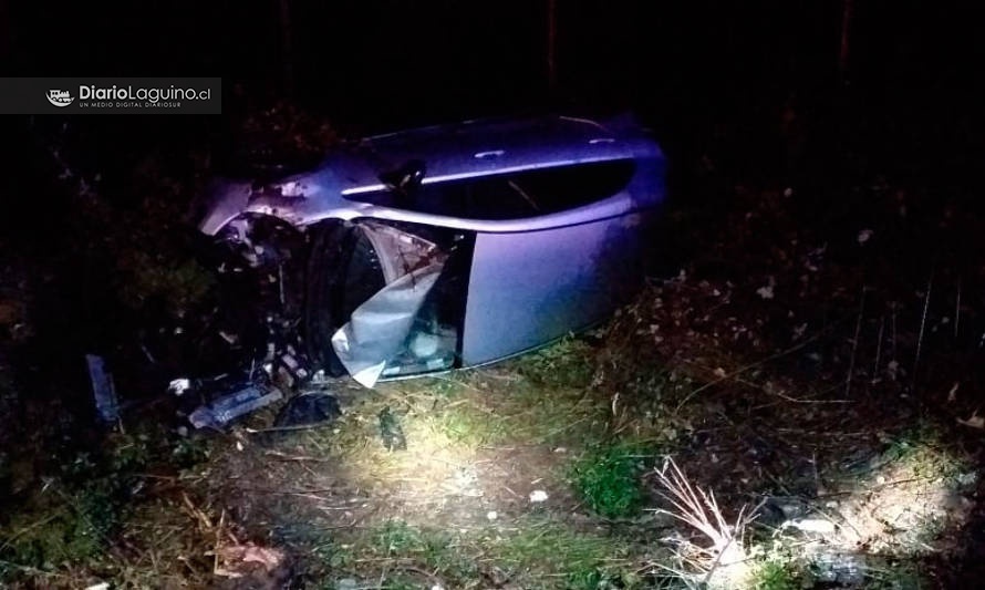
[[[384,178],[414,166],[425,197],[405,200]],[[545,192],[564,190],[571,198],[551,194],[540,205]],[[265,183],[219,179],[199,228],[217,236],[259,215],[302,231],[398,224],[467,235],[474,241],[457,368],[542,345],[625,302],[641,278],[646,221],[664,196],[663,155],[632,116],[551,115],[379,135],[333,149],[311,172]]]

